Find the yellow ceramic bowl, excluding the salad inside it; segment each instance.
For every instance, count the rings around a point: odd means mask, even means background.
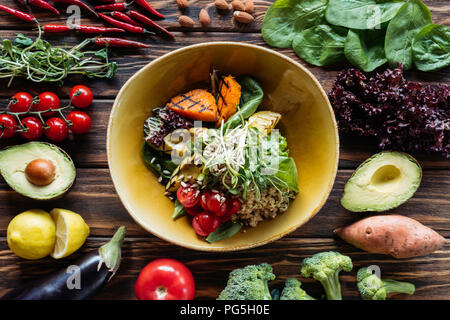
[[[264,90],[262,107],[282,114],[281,132],[298,169],[300,192],[285,213],[234,237],[208,244],[190,219],[172,221],[173,203],[141,158],[143,124],[155,107],[208,80],[211,66],[248,74]],[[202,251],[232,251],[274,241],[311,219],[325,203],[337,171],[339,138],[330,103],[317,79],[294,60],[234,42],[189,46],[139,70],[120,90],[108,127],[108,163],[116,191],[133,219],[171,243]]]

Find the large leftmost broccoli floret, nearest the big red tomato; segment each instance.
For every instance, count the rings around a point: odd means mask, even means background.
[[[235,269],[217,300],[272,300],[268,281],[275,279],[268,263]]]

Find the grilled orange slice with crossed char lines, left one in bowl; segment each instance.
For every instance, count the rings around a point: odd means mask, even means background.
[[[194,89],[173,97],[167,107],[183,117],[206,122],[217,121],[217,104],[206,90]]]

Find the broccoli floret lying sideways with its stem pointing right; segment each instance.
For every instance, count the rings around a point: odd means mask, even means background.
[[[363,300],[386,300],[388,293],[398,292],[413,294],[415,286],[409,282],[391,279],[380,279],[372,270],[361,268],[358,270],[358,290]]]

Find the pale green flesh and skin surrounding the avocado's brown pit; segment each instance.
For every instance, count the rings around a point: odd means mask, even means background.
[[[25,176],[32,160],[51,160],[56,167],[55,180],[48,186],[36,186]],[[17,193],[34,200],[54,200],[63,196],[73,185],[76,169],[70,156],[58,146],[46,142],[28,142],[0,151],[0,173]]]

